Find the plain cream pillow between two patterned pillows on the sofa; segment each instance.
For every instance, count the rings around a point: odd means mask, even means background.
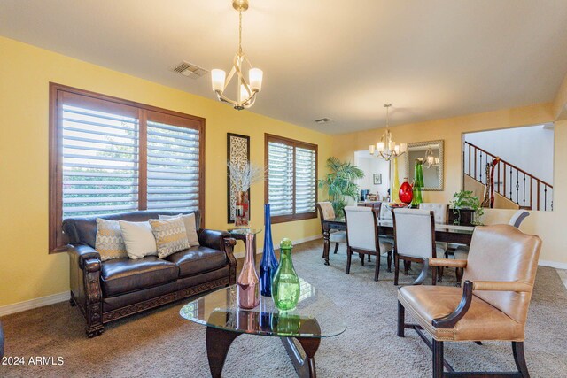
[[[127,222],[119,220],[122,238],[126,244],[128,258],[144,258],[144,256],[157,256],[156,239],[151,232],[150,223]]]

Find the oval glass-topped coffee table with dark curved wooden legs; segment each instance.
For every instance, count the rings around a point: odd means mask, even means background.
[[[184,319],[206,326],[206,356],[213,377],[220,377],[230,344],[242,334],[280,337],[300,377],[315,377],[315,352],[322,337],[338,336],[346,325],[329,297],[299,279],[297,308],[279,312],[271,297],[261,297],[252,310],[238,308],[237,285],[200,297],[180,311]],[[302,357],[292,339],[298,340]]]

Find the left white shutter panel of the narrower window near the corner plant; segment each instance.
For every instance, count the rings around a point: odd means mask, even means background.
[[[293,147],[268,142],[268,203],[271,215],[293,214]]]

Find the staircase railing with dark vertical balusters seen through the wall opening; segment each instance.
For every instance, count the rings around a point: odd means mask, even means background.
[[[474,184],[471,185],[471,179],[483,185],[484,189],[487,181],[486,164],[492,163],[497,158],[496,155],[465,142],[462,157],[463,188],[467,190],[474,188]],[[500,159],[492,169],[494,174],[493,195],[496,203],[509,202],[516,204],[518,209],[526,210],[553,210],[553,185],[528,174],[506,160]],[[482,193],[479,197],[482,202]],[[504,207],[509,207],[509,205],[505,204]]]

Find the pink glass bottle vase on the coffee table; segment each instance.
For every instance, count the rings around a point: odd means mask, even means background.
[[[246,234],[245,265],[237,279],[238,306],[250,310],[260,305],[260,280],[254,266],[254,235]]]

